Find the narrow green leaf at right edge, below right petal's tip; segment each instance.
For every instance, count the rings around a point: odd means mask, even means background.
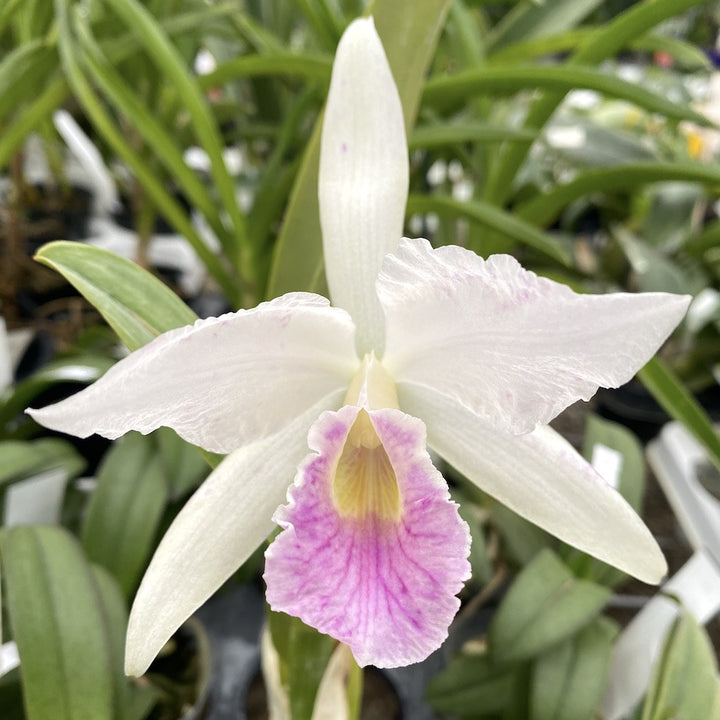
[[[638,378],[660,406],[700,441],[720,470],[720,435],[705,410],[673,371],[660,358],[654,357],[638,372]]]

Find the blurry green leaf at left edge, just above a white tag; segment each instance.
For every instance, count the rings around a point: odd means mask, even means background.
[[[85,460],[73,446],[58,438],[0,442],[0,488],[48,470],[60,469],[75,477],[84,467]]]

